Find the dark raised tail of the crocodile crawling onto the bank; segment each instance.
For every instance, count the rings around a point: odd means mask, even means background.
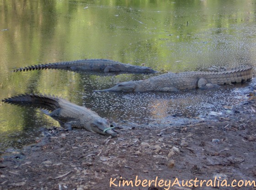
[[[55,110],[59,108],[59,98],[49,95],[37,95],[37,94],[21,94],[10,98],[5,98],[2,101],[16,105],[34,104],[37,107],[45,108],[48,110]]]

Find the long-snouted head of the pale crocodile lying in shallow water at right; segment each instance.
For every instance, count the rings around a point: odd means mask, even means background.
[[[119,83],[112,88],[105,89],[105,90],[95,90],[96,92],[109,92],[109,91],[119,91],[119,92],[134,92],[136,89],[136,82],[135,81],[128,81]]]

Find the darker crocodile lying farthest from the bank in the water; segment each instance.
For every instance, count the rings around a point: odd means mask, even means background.
[[[37,64],[24,68],[14,69],[13,72],[31,71],[40,69],[69,69],[69,70],[88,70],[110,72],[127,72],[127,73],[157,73],[157,71],[149,67],[124,64],[109,59],[81,59],[67,62]]]

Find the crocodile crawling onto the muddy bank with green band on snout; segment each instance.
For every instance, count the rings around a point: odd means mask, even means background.
[[[77,106],[54,95],[21,94],[2,101],[18,105],[33,104],[43,108],[41,109],[43,113],[59,121],[60,125],[68,130],[72,127],[84,128],[102,135],[117,136],[107,119],[101,118],[96,112],[86,107]]]

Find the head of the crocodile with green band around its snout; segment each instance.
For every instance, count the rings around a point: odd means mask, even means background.
[[[104,130],[107,129],[105,132]],[[117,133],[110,128],[109,121],[104,118],[96,118],[91,122],[91,131],[100,133],[102,135],[111,135],[116,137]]]

